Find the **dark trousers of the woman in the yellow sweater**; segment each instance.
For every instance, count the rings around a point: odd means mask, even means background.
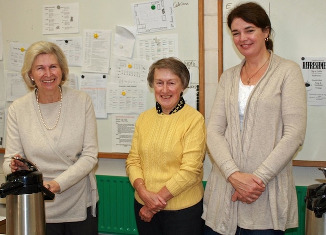
[[[168,202],[169,203],[169,202]],[[134,211],[139,235],[202,235],[204,233],[203,200],[192,207],[178,211],[161,211],[151,222],[139,216],[142,204],[134,200]]]

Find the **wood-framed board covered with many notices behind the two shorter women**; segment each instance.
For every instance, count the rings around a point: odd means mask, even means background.
[[[42,34],[42,10],[43,5],[76,3],[67,0],[53,1],[44,0],[0,0],[0,21],[3,33],[3,66],[7,70],[7,60],[10,42],[28,43],[44,40],[48,37],[83,37],[84,30],[111,30],[113,51],[116,25],[134,26],[131,5],[149,1],[137,0],[79,0],[79,33],[74,34]],[[164,1],[154,1],[164,2]],[[183,0],[174,2],[176,27],[174,29],[148,33],[146,35],[177,34],[178,36],[178,57],[186,64],[191,73],[191,84],[197,87],[199,98],[197,109],[204,115],[204,0],[193,1]],[[142,34],[145,35],[145,34]],[[135,57],[136,48],[133,56]],[[111,68],[110,68],[111,69]],[[69,67],[70,73],[82,74],[80,67]],[[1,84],[3,85],[3,84]],[[185,91],[186,92],[186,91]],[[151,92],[153,93],[153,92]],[[154,95],[152,94],[152,97]],[[154,99],[150,97],[147,108],[155,105]],[[111,151],[111,115],[106,119],[97,119],[99,158],[126,158],[126,153],[113,153]],[[4,153],[5,149],[0,149]]]

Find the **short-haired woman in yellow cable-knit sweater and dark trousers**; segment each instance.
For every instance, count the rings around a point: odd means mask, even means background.
[[[140,114],[126,160],[139,234],[200,235],[206,128],[182,98],[189,71],[177,58],[163,58],[147,80],[156,107]]]

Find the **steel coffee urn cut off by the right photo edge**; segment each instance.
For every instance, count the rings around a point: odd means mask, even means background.
[[[326,167],[318,168],[326,177]],[[326,183],[310,185],[307,188],[306,235],[326,234]]]

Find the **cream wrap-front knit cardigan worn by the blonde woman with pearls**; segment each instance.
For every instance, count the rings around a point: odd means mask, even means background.
[[[95,212],[98,200],[93,168],[97,163],[96,117],[91,98],[81,91],[62,87],[62,110],[58,125],[47,130],[38,112],[35,91],[15,100],[9,107],[7,120],[4,173],[15,154],[36,164],[43,180],[55,180],[61,193],[53,201],[45,201],[47,223],[83,221],[86,208]],[[55,103],[42,105],[48,126],[57,119]],[[59,107],[59,106],[58,106]],[[53,124],[49,119],[53,119]],[[94,213],[95,215],[95,213]]]

